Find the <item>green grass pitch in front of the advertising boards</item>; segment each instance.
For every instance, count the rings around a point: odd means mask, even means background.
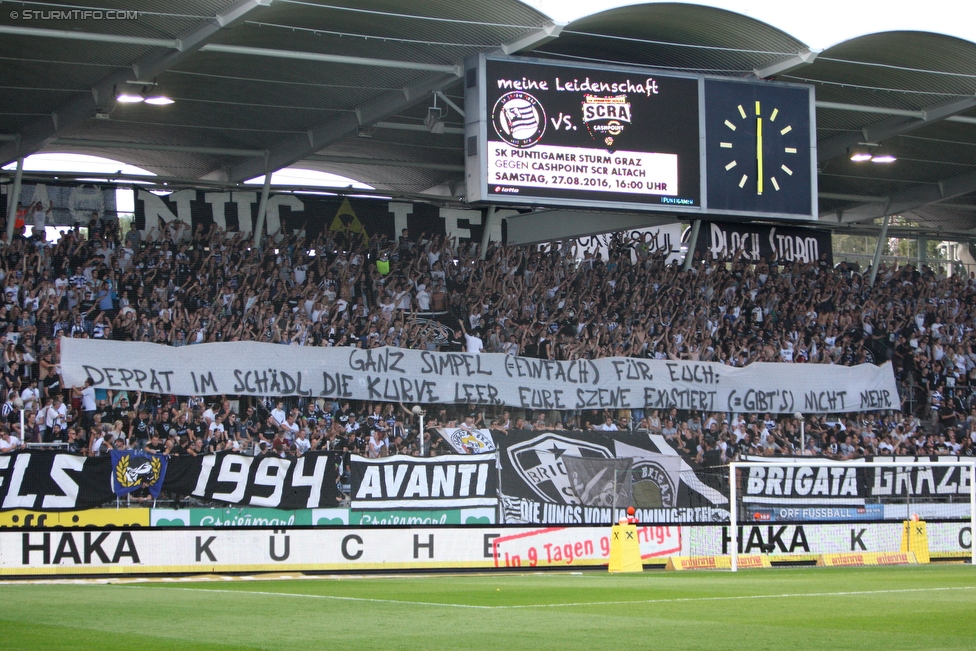
[[[967,649],[934,565],[0,585],[0,649]]]

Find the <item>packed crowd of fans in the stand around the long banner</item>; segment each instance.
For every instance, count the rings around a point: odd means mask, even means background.
[[[506,247],[442,235],[246,234],[181,223],[145,237],[93,220],[56,243],[43,233],[2,250],[0,452],[58,442],[167,454],[308,450],[370,456],[450,451],[438,427],[623,429],[660,434],[717,465],[742,454],[848,459],[877,454],[973,454],[976,280],[922,266],[881,267],[872,287],[841,263],[711,261],[666,264],[648,240],[608,236]],[[632,356],[744,366],[755,361],[892,361],[898,413],[792,417],[619,412],[484,413],[429,406],[418,437],[401,405],[112,393],[63,386],[59,337],[172,346],[261,341],[298,346],[399,346],[557,360]],[[21,426],[21,413],[24,424]]]

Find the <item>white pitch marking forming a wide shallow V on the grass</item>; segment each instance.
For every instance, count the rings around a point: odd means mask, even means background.
[[[108,584],[113,585],[113,584]],[[148,588],[155,587],[143,585],[119,585],[118,588]],[[515,606],[475,606],[472,604],[450,604],[436,603],[430,601],[401,601],[397,599],[372,599],[369,597],[339,597],[335,595],[301,594],[294,592],[267,592],[258,590],[212,590],[208,588],[166,588],[167,590],[189,590],[192,592],[222,592],[238,595],[260,595],[270,597],[298,597],[308,599],[332,599],[336,601],[362,601],[370,603],[396,604],[400,606],[440,606],[443,608],[464,608],[474,610],[524,610],[526,608],[567,608],[575,606],[626,606],[628,604],[666,604],[666,603],[687,603],[696,601],[738,601],[745,599],[784,599],[796,597],[848,597],[858,595],[874,594],[901,594],[916,592],[946,592],[950,590],[976,590],[976,586],[954,586],[944,588],[905,588],[901,590],[848,590],[843,592],[787,592],[783,594],[768,595],[737,595],[732,597],[679,597],[675,599],[637,599],[633,601],[580,601],[564,604],[524,604]]]

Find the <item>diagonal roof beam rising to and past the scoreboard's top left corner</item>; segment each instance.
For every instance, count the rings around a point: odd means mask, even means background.
[[[532,49],[558,37],[561,31],[561,25],[544,25],[515,41],[500,45],[496,52],[513,54]],[[243,181],[282,167],[288,167],[296,161],[308,157],[309,154],[321,151],[346,136],[356,133],[360,127],[369,126],[409,108],[431,93],[443,90],[456,82],[461,77],[462,64],[462,61],[458,61],[451,66],[452,72],[450,73],[437,74],[421,79],[401,90],[390,91],[361,104],[353,112],[320,122],[303,135],[287,138],[273,147],[266,158],[255,157],[230,168],[227,173],[227,180],[231,182]]]

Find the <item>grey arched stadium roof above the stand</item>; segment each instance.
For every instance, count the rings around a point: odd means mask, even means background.
[[[225,185],[294,165],[396,196],[457,201],[461,64],[496,52],[813,84],[822,224],[859,228],[901,214],[944,239],[976,232],[970,41],[883,32],[815,52],[747,16],[680,3],[568,25],[517,0],[72,6],[4,2],[0,165],[72,152],[171,183]],[[158,89],[175,103],[117,103],[128,87]],[[424,125],[435,95],[449,107],[442,133]],[[848,149],[859,143],[898,160],[853,163]]]

